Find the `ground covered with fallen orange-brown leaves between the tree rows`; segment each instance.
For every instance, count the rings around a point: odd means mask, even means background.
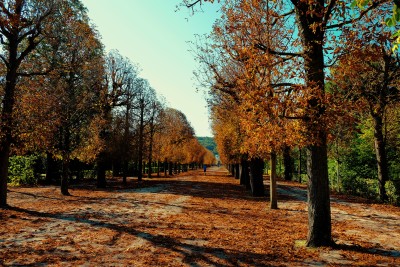
[[[311,249],[306,191],[295,182],[278,182],[278,210],[223,168],[109,184],[72,186],[72,196],[9,188],[0,265],[400,266],[398,207],[333,195],[337,246]]]

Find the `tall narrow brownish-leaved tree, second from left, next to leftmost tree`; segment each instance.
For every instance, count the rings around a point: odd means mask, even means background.
[[[50,29],[54,71],[47,78],[57,101],[59,124],[49,151],[62,162],[61,193],[69,195],[70,162],[93,162],[104,145],[99,138],[103,47],[85,10],[64,2]]]

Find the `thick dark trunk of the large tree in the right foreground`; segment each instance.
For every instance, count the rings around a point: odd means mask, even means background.
[[[324,74],[324,16],[315,15],[312,11],[323,12],[320,1],[296,5],[296,16],[299,22],[299,35],[302,39],[306,86],[316,95],[308,100],[306,117],[307,131],[313,136],[314,145],[307,149],[308,173],[308,236],[307,246],[330,246],[332,241],[331,210],[328,179],[327,130],[321,118],[325,107],[321,105],[318,94],[323,96],[325,90]],[[311,11],[311,12],[308,12]],[[312,28],[311,25],[316,25]]]

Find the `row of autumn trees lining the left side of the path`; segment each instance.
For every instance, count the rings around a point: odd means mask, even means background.
[[[143,162],[212,161],[138,66],[104,53],[79,0],[1,1],[0,44],[0,206],[10,155],[46,155],[47,179],[60,176],[64,195],[76,162],[96,166],[105,187],[111,168],[126,181],[134,165],[141,180]]]

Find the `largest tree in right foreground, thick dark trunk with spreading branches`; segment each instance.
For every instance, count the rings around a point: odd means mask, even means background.
[[[184,1],[193,8],[195,4],[202,1]],[[258,1],[228,1],[238,2],[241,7],[257,5]],[[266,56],[279,56],[283,62],[285,59],[300,58],[298,77],[293,77],[300,86],[294,87],[293,92],[301,96],[296,101],[285,100],[288,107],[300,109],[302,116],[301,123],[304,127],[303,133],[308,136],[307,145],[307,172],[308,172],[308,237],[307,245],[312,247],[332,245],[331,213],[329,197],[329,180],[327,166],[327,133],[328,125],[332,121],[327,112],[329,97],[325,91],[325,56],[333,55],[334,50],[327,47],[335,42],[336,34],[334,29],[340,29],[359,20],[365,14],[373,11],[377,6],[386,1],[373,1],[362,11],[351,9],[347,1],[321,1],[321,0],[291,0],[291,1],[267,1],[271,9],[277,14],[272,23],[276,20],[295,22],[298,35],[292,35],[292,43],[301,45],[289,46],[286,50],[279,50],[279,47],[270,46],[263,40],[254,39],[252,46],[246,47],[252,50],[254,47],[263,51]],[[245,9],[246,10],[246,9]],[[351,14],[351,15],[350,15]],[[349,19],[350,17],[350,19]],[[240,22],[240,21],[238,21]],[[255,25],[271,23],[270,20],[258,21]],[[245,24],[245,28],[251,28],[254,24]],[[268,27],[267,27],[268,28]],[[268,39],[267,39],[268,40]],[[334,44],[333,44],[334,47]],[[239,55],[240,56],[240,55]],[[290,60],[289,60],[290,62]],[[289,80],[290,83],[293,83]],[[285,88],[286,86],[280,86]],[[293,87],[293,86],[292,86]]]

